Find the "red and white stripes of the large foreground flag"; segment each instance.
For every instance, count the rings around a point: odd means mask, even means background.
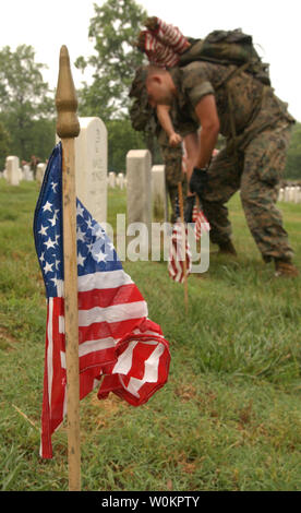
[[[41,416],[43,457],[52,457],[51,434],[67,413],[64,299],[50,297]],[[80,397],[95,386],[137,406],[168,377],[169,348],[160,327],[147,319],[147,303],[123,270],[79,276]]]

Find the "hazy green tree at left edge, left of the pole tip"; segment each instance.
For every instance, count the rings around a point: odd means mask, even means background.
[[[55,115],[43,69],[44,64],[35,62],[32,46],[20,45],[15,51],[5,46],[0,50],[0,119],[10,133],[11,151],[22,159],[38,154],[36,123],[41,129]]]

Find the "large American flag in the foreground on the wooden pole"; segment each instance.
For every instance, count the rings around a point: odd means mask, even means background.
[[[168,379],[170,354],[160,326],[124,273],[103,227],[76,200],[80,397],[96,386],[139,406]],[[51,434],[67,414],[62,248],[62,148],[49,159],[34,219],[46,286],[47,324],[40,455],[52,457]]]

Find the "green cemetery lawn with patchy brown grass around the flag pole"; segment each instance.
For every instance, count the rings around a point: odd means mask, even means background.
[[[68,490],[67,430],[39,457],[46,326],[34,248],[37,184],[0,180],[0,488]],[[108,222],[125,213],[109,190]],[[279,205],[301,267],[301,205]],[[82,490],[301,489],[301,278],[277,279],[229,203],[237,260],[210,255],[183,286],[167,263],[125,262],[170,343],[168,383],[139,408],[96,392],[81,402]],[[213,247],[213,250],[215,248]]]

